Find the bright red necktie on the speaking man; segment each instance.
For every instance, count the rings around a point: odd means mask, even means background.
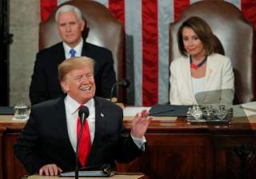
[[[80,117],[78,116],[77,138],[78,138],[78,135],[80,132],[80,128],[81,128],[81,121],[80,121]],[[86,120],[83,125],[82,135],[81,135],[79,146],[78,146],[78,158],[79,158],[79,161],[80,161],[82,167],[84,167],[86,165],[86,160],[90,153],[90,145],[91,145],[90,144],[90,129],[89,129],[88,121]]]

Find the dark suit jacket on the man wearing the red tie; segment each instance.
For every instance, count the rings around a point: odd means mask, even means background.
[[[122,129],[122,109],[95,97],[95,135],[86,166],[114,160],[129,162],[141,150]],[[67,131],[64,97],[42,102],[31,109],[30,119],[14,145],[14,153],[29,173],[54,163],[62,170],[75,168],[75,153]],[[102,114],[103,115],[102,115]]]

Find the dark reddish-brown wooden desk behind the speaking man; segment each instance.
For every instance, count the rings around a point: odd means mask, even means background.
[[[12,149],[24,125],[0,117],[0,129],[4,129],[2,178],[25,174]],[[124,125],[129,132],[129,117]],[[118,164],[117,170],[145,173],[154,179],[254,178],[255,129],[256,117],[236,118],[231,125],[188,125],[182,118],[158,117],[147,130],[146,153],[129,164]]]

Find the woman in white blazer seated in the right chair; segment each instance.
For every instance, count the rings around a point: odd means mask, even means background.
[[[214,34],[202,18],[191,17],[178,29],[182,57],[170,65],[170,104],[232,104],[234,73],[230,58],[214,54]]]

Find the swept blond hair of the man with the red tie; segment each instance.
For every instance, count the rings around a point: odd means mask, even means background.
[[[58,65],[58,78],[62,82],[66,77],[66,74],[69,74],[71,70],[82,69],[84,67],[89,67],[90,70],[94,73],[94,60],[87,57],[75,57],[64,60],[61,64]]]

